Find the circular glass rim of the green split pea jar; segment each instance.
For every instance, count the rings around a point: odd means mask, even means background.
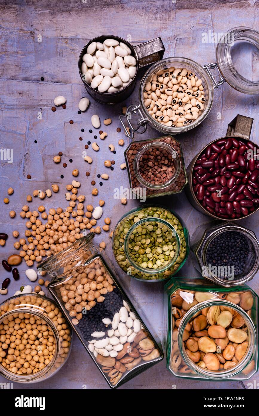
[[[141,267],[139,264],[137,264],[136,262],[134,262],[134,260],[132,260],[132,257],[131,257],[131,255],[129,253],[129,247],[128,247],[129,243],[128,243],[128,240],[129,240],[129,237],[132,234],[133,230],[135,228],[137,228],[140,224],[148,223],[148,222],[158,222],[158,223],[161,223],[161,224],[166,225],[173,232],[174,236],[176,237],[176,241],[177,241],[177,243],[176,243],[177,244],[177,250],[175,251],[174,257],[165,266],[158,267],[157,269],[148,269],[148,268]],[[176,261],[176,259],[178,258],[179,252],[180,252],[180,238],[179,238],[178,234],[176,233],[176,229],[168,221],[166,221],[166,220],[164,220],[162,218],[156,218],[156,217],[142,218],[137,223],[133,224],[129,228],[129,231],[127,232],[127,234],[125,235],[124,250],[125,250],[125,254],[127,256],[127,259],[129,260],[129,263],[135,269],[139,270],[140,272],[142,272],[144,274],[155,275],[157,273],[162,273],[165,270],[168,270],[173,265],[173,263]]]

